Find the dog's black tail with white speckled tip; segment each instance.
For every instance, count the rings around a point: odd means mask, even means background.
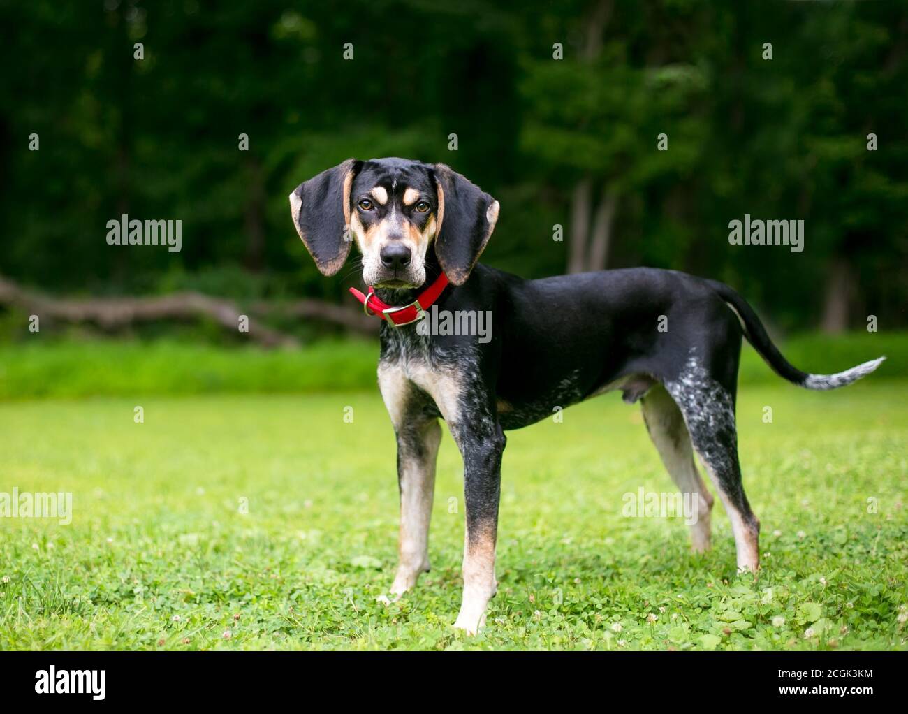
[[[744,327],[747,342],[754,345],[754,349],[773,368],[773,371],[789,382],[804,387],[804,389],[827,390],[844,387],[846,384],[857,382],[862,377],[870,374],[886,359],[885,357],[878,357],[870,362],[864,362],[864,364],[852,367],[850,370],[836,372],[835,374],[801,372],[782,356],[782,352],[778,351],[773,341],[769,339],[769,335],[766,334],[763,322],[760,322],[760,318],[756,316],[754,309],[747,304],[743,297],[735,293],[725,283],[719,283],[715,280],[707,280],[706,283],[735,311]]]

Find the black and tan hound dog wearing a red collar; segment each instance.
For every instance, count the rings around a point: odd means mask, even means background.
[[[505,431],[620,390],[640,401],[646,429],[678,489],[692,494],[692,547],[711,545],[713,482],[735,536],[738,570],[759,565],[760,523],[738,463],[735,395],[745,337],[781,377],[811,390],[850,384],[884,357],[845,372],[801,372],[785,360],[745,300],[724,283],[629,268],[524,280],[477,263],[498,201],[444,164],[400,158],[342,164],[290,194],[293,223],[321,273],[337,273],[356,243],[378,316],[378,382],[397,437],[399,564],[390,595],[429,570],[429,518],[447,422],[464,464],[463,599],[454,627],[476,633],[495,595]],[[495,318],[491,339],[430,334],[427,311]]]

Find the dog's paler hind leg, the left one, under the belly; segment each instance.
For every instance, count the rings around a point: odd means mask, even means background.
[[[690,494],[685,499],[690,499],[693,512],[685,513],[685,516],[692,521],[688,521],[691,547],[696,552],[709,550],[713,496],[696,470],[694,450],[681,410],[661,384],[646,392],[641,403],[646,431],[656,445],[662,463],[682,494]]]

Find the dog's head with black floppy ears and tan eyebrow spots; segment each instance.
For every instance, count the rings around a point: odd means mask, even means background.
[[[498,220],[498,201],[448,166],[406,159],[348,159],[301,183],[290,203],[322,274],[341,270],[356,241],[362,279],[376,287],[419,287],[433,254],[463,283]]]

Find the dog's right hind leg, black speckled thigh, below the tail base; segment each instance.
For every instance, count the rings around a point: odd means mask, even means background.
[[[738,570],[756,570],[760,563],[760,521],[750,509],[741,482],[734,392],[717,382],[694,357],[665,384],[684,415],[694,449],[732,522]]]

